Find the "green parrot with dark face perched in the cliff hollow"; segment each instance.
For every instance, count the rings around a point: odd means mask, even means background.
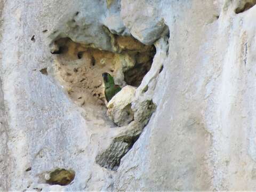
[[[105,84],[105,98],[109,102],[116,93],[121,91],[121,87],[115,84],[114,78],[109,73],[103,73],[102,77]]]

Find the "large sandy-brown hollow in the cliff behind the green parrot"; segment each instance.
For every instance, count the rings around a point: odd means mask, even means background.
[[[115,37],[117,52],[95,49],[92,45],[60,38],[54,42],[57,55],[57,78],[61,79],[68,95],[78,105],[83,102],[102,106],[105,104],[103,73],[114,77],[119,86],[139,86],[148,73],[156,49],[144,45],[131,36]],[[83,100],[78,99],[84,95]]]

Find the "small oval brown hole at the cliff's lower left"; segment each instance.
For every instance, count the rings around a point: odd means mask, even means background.
[[[47,175],[46,183],[49,185],[66,186],[75,178],[75,171],[66,169],[56,169]]]

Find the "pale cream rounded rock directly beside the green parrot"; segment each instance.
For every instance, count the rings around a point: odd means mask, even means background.
[[[133,121],[134,112],[131,109],[131,103],[135,90],[135,87],[126,85],[108,102],[108,116],[118,126],[124,126]]]

